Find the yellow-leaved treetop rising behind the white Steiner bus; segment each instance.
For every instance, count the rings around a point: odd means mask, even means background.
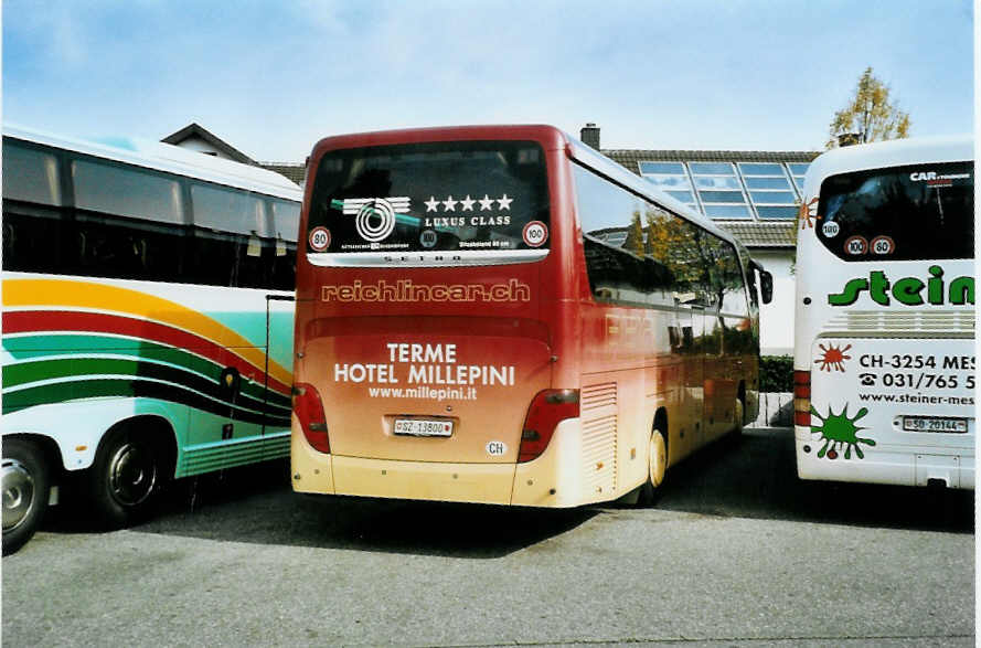
[[[909,137],[909,115],[889,100],[889,86],[866,67],[855,96],[834,114],[825,148]]]

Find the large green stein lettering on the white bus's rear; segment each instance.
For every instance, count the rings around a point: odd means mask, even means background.
[[[881,306],[889,306],[893,299],[904,306],[974,304],[974,277],[957,277],[950,281],[945,291],[943,268],[930,266],[929,273],[930,277],[926,283],[917,277],[903,277],[896,281],[889,281],[884,272],[872,270],[868,273],[867,279],[850,279],[841,293],[829,295],[828,304],[851,306],[859,300],[863,290],[868,291],[868,297]],[[926,296],[924,296],[924,288],[926,288]]]

